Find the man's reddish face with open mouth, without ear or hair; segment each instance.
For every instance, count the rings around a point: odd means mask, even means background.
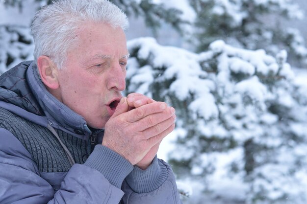
[[[79,43],[59,70],[58,98],[92,128],[104,128],[126,88],[128,50],[121,28],[83,24]]]

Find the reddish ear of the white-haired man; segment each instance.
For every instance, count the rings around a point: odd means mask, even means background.
[[[58,69],[52,60],[44,55],[37,59],[37,68],[43,83],[50,89],[58,89]]]

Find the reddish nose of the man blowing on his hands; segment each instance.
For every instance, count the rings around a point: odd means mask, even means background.
[[[126,89],[126,68],[121,67],[119,62],[113,63],[109,71],[107,88],[115,91],[124,91]]]

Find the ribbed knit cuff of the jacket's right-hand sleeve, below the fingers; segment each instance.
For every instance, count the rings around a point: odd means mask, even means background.
[[[135,166],[126,181],[134,192],[149,193],[158,189],[166,181],[167,176],[168,169],[166,165],[155,157],[146,170]]]

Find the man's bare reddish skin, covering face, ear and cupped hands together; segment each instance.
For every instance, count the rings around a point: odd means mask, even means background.
[[[87,23],[75,35],[78,44],[63,68],[56,68],[48,56],[38,58],[44,84],[88,126],[105,129],[102,145],[146,169],[175,128],[175,109],[139,93],[122,97],[128,50],[120,27]]]

